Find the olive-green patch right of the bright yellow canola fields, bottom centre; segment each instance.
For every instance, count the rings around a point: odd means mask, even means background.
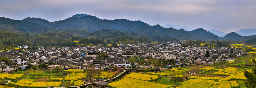
[[[175,83],[174,81],[170,82],[170,77],[162,77],[160,79],[158,79],[157,81],[154,81],[156,83],[161,83],[161,84],[167,84],[167,85],[180,85],[180,83],[182,82],[177,82]]]

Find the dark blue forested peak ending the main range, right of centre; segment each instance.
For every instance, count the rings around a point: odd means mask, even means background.
[[[203,39],[203,40],[219,40],[220,37],[215,35],[214,33],[211,33],[209,31],[206,31],[203,28],[198,28],[192,31],[188,31],[192,35],[194,35],[197,39]]]

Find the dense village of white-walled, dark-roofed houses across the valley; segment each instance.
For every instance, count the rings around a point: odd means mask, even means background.
[[[61,67],[66,69],[87,69],[93,65],[94,69],[104,67],[131,67],[133,62],[130,57],[153,57],[157,59],[173,59],[177,63],[184,60],[194,63],[215,63],[218,61],[233,61],[241,53],[230,53],[230,49],[236,52],[236,48],[221,49],[207,48],[203,46],[182,46],[181,43],[142,43],[142,44],[119,44],[118,48],[105,48],[101,46],[80,46],[64,48],[39,48],[38,50],[9,50],[0,51],[0,56],[7,57],[10,65],[0,63],[0,71],[9,72],[28,64],[48,64],[48,67]],[[205,57],[206,51],[210,57]],[[240,50],[242,51],[242,50]],[[108,58],[102,60],[97,58],[99,53],[107,53]],[[235,57],[230,57],[234,56]],[[147,59],[145,59],[147,61]],[[49,63],[54,64],[49,64]]]

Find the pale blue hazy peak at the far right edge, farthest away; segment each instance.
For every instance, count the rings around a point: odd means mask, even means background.
[[[256,30],[253,29],[241,29],[239,31],[236,32],[239,35],[243,35],[243,36],[250,36],[250,35],[255,35],[256,34]]]

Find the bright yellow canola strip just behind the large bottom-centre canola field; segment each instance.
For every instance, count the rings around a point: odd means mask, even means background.
[[[140,79],[145,81],[151,80],[150,77],[152,77],[153,80],[158,78],[157,75],[148,75],[148,74],[142,74],[142,73],[136,73],[136,72],[132,72],[129,75],[126,75],[125,77]]]

